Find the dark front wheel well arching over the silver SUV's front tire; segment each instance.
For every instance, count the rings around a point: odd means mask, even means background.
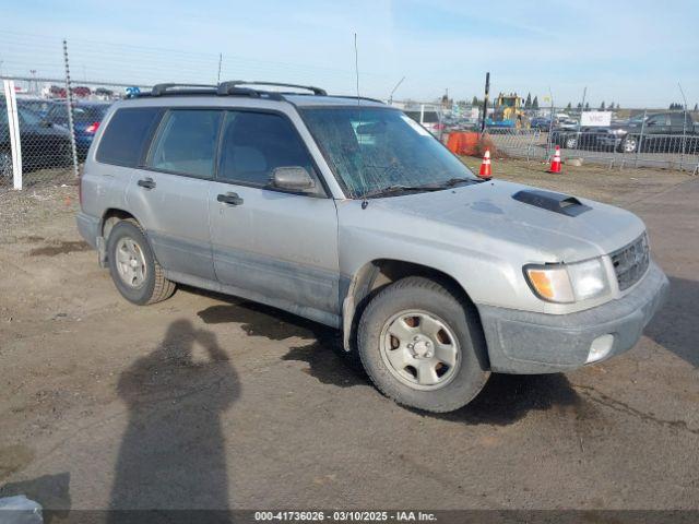
[[[355,278],[350,285],[350,300],[346,301],[346,303],[351,305],[350,309],[353,308],[353,310],[345,310],[343,312],[343,314],[347,315],[344,321],[345,349],[353,350],[356,347],[359,319],[371,298],[386,286],[406,276],[423,276],[438,282],[449,289],[454,298],[464,305],[466,312],[472,315],[479,329],[479,333],[475,334],[479,337],[479,342],[482,342],[482,344],[476,344],[476,346],[483,348],[483,350],[478,352],[478,359],[484,367],[483,369],[489,369],[490,366],[487,356],[485,334],[481,324],[481,314],[461,284],[443,271],[393,259],[379,259],[369,262],[356,273]]]

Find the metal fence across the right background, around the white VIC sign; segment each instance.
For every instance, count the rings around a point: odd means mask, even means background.
[[[472,109],[466,108],[466,111]],[[462,122],[454,121],[449,112],[445,115],[442,136],[453,132],[481,132],[482,112],[478,112],[478,124],[475,126],[473,117]],[[582,158],[609,168],[655,167],[695,175],[699,171],[699,114],[696,111],[547,108],[522,111],[518,117],[510,121],[486,120],[484,134],[507,156],[548,160],[558,146],[564,160]],[[590,120],[595,119],[603,122],[590,124]]]

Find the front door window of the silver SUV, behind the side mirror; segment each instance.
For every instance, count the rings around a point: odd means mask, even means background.
[[[313,172],[306,146],[292,122],[280,115],[232,111],[223,128],[218,180],[264,187],[277,167]]]

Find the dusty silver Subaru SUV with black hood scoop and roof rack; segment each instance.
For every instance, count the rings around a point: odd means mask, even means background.
[[[111,107],[78,227],[125,298],[187,284],[336,327],[381,392],[430,412],[490,371],[618,355],[661,306],[633,214],[475,177],[378,100],[275,85],[163,84]]]

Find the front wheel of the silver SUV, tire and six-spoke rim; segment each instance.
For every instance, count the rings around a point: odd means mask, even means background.
[[[412,318],[411,325],[406,321]],[[394,331],[406,336],[401,340]],[[357,345],[362,364],[381,393],[426,412],[452,412],[469,404],[489,376],[479,359],[485,341],[474,308],[425,277],[406,277],[382,289],[362,315]],[[438,352],[449,358],[440,360]]]

